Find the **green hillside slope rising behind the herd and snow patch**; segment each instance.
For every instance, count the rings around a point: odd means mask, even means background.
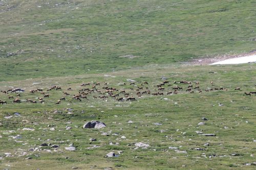
[[[0,80],[250,52],[255,6],[252,0],[1,1]]]

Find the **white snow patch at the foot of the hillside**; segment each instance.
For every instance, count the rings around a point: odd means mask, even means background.
[[[249,63],[249,62],[256,62],[256,55],[253,56],[246,56],[246,57],[238,57],[238,58],[231,58],[215,63],[211,63],[209,65],[216,65],[216,64],[242,64],[242,63]]]

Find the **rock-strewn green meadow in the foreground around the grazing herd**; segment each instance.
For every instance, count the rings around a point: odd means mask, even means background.
[[[161,69],[159,69],[161,68]],[[192,81],[193,85],[199,81],[201,89],[211,87],[210,81],[214,81],[215,87],[227,88],[227,91],[203,91],[202,94],[195,91],[190,94],[179,91],[177,95],[150,96],[135,102],[117,102],[108,99],[95,100],[89,95],[89,100],[77,102],[67,97],[67,101],[60,105],[54,103],[63,96],[62,91],[49,91],[50,98],[45,99],[45,104],[31,104],[22,102],[13,104],[8,96],[0,93],[0,99],[6,100],[7,105],[1,105],[0,127],[2,143],[0,155],[1,168],[12,169],[253,169],[252,163],[255,155],[253,140],[255,136],[255,105],[256,96],[245,96],[243,92],[255,91],[255,64],[229,65],[229,66],[188,66],[169,67],[152,66],[151,69],[130,69],[104,74],[87,74],[70,77],[55,77],[32,79],[13,82],[0,82],[2,90],[9,86],[26,89],[20,99],[33,99],[40,96],[39,93],[31,94],[29,89],[44,88],[58,85],[63,89],[72,87],[69,91],[72,95],[77,93],[82,82],[108,82],[108,86],[118,89],[126,89],[135,95],[135,91],[129,90],[128,83],[121,86],[118,83],[126,82],[126,79],[139,82],[148,81],[149,89],[154,90],[154,85],[161,82],[160,77],[166,76],[171,82],[177,80]],[[214,73],[212,73],[214,72]],[[114,76],[114,77],[113,77]],[[41,82],[40,85],[32,85],[33,82]],[[102,86],[102,85],[101,85]],[[101,89],[101,86],[98,87]],[[187,85],[180,85],[186,88]],[[173,86],[172,86],[173,87]],[[241,91],[234,90],[241,87]],[[92,86],[90,86],[92,88]],[[135,87],[133,87],[135,88]],[[171,90],[165,86],[164,93]],[[63,90],[66,91],[66,90]],[[13,94],[8,94],[13,95]],[[164,100],[167,98],[168,100]],[[219,106],[219,103],[224,106]],[[94,107],[89,107],[94,106]],[[67,114],[72,108],[73,114]],[[19,112],[21,116],[14,116]],[[12,118],[4,118],[13,115]],[[202,117],[208,118],[205,125],[198,126]],[[100,130],[82,129],[85,122],[99,120],[106,124],[106,128]],[[134,123],[127,123],[132,120]],[[246,123],[248,121],[248,123]],[[72,122],[72,124],[67,124]],[[156,126],[154,123],[160,123]],[[66,130],[71,126],[71,130]],[[34,131],[22,129],[33,128]],[[50,131],[55,127],[55,131]],[[137,128],[135,128],[137,127]],[[224,127],[228,127],[225,129]],[[14,130],[12,133],[8,131]],[[165,130],[160,133],[160,130]],[[215,133],[216,137],[199,136],[196,131],[203,133]],[[111,132],[110,136],[101,135],[102,132]],[[113,135],[113,134],[117,135]],[[13,139],[12,136],[20,135],[22,138]],[[120,138],[125,136],[126,139]],[[90,142],[90,138],[97,141]],[[50,139],[48,141],[48,139]],[[22,141],[22,142],[15,142]],[[38,147],[41,143],[60,145],[57,152],[49,147],[47,151],[29,151]],[[109,142],[119,145],[110,145]],[[148,149],[134,150],[136,142],[150,144]],[[209,142],[210,146],[203,144]],[[25,144],[26,143],[26,144]],[[68,144],[74,143],[76,151],[65,151]],[[100,148],[87,149],[92,145]],[[168,147],[180,147],[180,151],[187,154],[176,153]],[[205,151],[196,151],[194,148],[203,148]],[[116,158],[104,158],[105,154],[114,151],[123,151]],[[64,151],[64,152],[62,152]],[[14,157],[5,157],[4,153],[12,153]],[[17,156],[20,152],[27,152],[26,156]],[[16,154],[15,154],[16,153]],[[238,156],[231,156],[237,153]],[[202,155],[205,155],[206,158]],[[25,159],[31,157],[32,159]],[[66,158],[68,157],[68,158]],[[29,164],[29,165],[27,165]]]

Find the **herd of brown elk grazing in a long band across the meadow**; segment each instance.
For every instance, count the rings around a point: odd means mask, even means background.
[[[101,86],[102,85],[102,86]],[[122,87],[118,89],[117,87],[111,87],[110,83],[82,83],[79,87],[79,90],[73,90],[71,87],[67,88],[67,91],[63,91],[61,87],[58,86],[52,86],[50,88],[42,89],[31,89],[29,93],[24,92],[25,90],[22,90],[20,88],[15,89],[8,89],[6,91],[1,90],[1,92],[6,95],[7,101],[0,100],[0,104],[4,105],[10,102],[11,103],[22,103],[22,102],[29,102],[29,103],[45,103],[47,102],[48,98],[51,98],[51,96],[56,95],[56,93],[52,93],[51,91],[62,91],[59,92],[59,95],[61,94],[61,97],[59,100],[54,102],[54,104],[58,105],[61,104],[63,101],[78,101],[82,102],[84,100],[106,100],[106,99],[113,99],[118,102],[123,101],[136,101],[138,98],[142,98],[143,96],[163,96],[163,95],[173,95],[173,94],[179,94],[179,93],[202,93],[203,91],[209,92],[209,91],[217,91],[217,90],[227,90],[224,87],[216,87],[214,85],[214,82],[209,82],[209,86],[207,89],[202,90],[200,88],[199,82],[193,82],[191,81],[174,81],[173,84],[170,84],[169,81],[163,81],[157,85],[148,86],[148,82],[132,82],[132,83],[123,83]],[[184,89],[185,88],[185,89]],[[184,89],[184,90],[183,90]],[[234,88],[234,90],[241,90],[240,87]],[[68,92],[69,91],[69,92]],[[21,93],[17,92],[23,92],[22,95],[28,96],[29,94],[33,94],[34,99],[23,99]],[[52,93],[52,94],[51,94]],[[10,95],[12,94],[12,95]],[[16,94],[16,95],[14,95]],[[251,92],[244,92],[244,94],[247,96],[251,96],[251,94],[256,94],[256,91]],[[36,96],[36,98],[35,98]],[[1,95],[0,95],[1,97]],[[47,98],[47,100],[46,100]],[[136,99],[137,98],[137,99]],[[56,97],[55,97],[56,100]]]

